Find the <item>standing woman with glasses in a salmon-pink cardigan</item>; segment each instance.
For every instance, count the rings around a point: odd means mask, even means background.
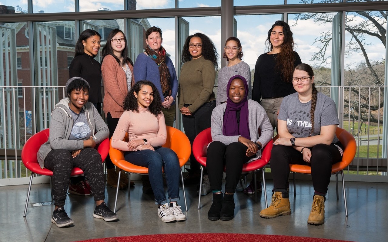
[[[109,33],[106,45],[102,49],[102,80],[104,82],[103,110],[109,128],[109,139],[113,136],[121,114],[124,112],[124,98],[135,83],[133,78],[133,62],[128,57],[126,38],[123,31],[114,29]],[[106,160],[108,178],[106,183],[117,187],[117,173],[109,156]],[[120,179],[120,189],[125,189],[130,183],[126,176]]]

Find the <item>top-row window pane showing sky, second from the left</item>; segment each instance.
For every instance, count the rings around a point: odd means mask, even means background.
[[[58,13],[58,12],[74,12],[74,0],[57,0],[57,1],[41,1],[32,0],[33,13]]]

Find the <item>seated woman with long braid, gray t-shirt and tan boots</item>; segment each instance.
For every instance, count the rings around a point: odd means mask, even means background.
[[[331,166],[341,161],[343,146],[336,137],[340,124],[334,101],[319,93],[314,85],[310,65],[299,64],[293,74],[296,93],[286,96],[278,116],[279,139],[271,153],[271,172],[274,178],[272,204],[260,212],[263,218],[291,214],[287,181],[289,164],[311,166],[314,201],[307,223],[324,223],[327,186]]]

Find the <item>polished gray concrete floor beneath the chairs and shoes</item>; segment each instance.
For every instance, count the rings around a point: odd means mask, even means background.
[[[388,237],[387,184],[368,182],[346,182],[349,216],[345,216],[343,196],[336,200],[335,182],[329,185],[325,203],[324,225],[307,224],[312,204],[311,181],[297,180],[296,197],[293,197],[291,183],[291,215],[274,219],[260,218],[259,212],[265,208],[264,195],[258,194],[256,203],[252,195],[242,192],[235,194],[235,218],[230,221],[210,221],[207,212],[211,205],[211,194],[201,199],[201,209],[197,209],[196,185],[186,187],[187,221],[162,222],[157,215],[153,195],[142,194],[139,180],[131,189],[120,191],[118,215],[120,220],[105,222],[92,217],[93,197],[69,195],[65,209],[74,220],[71,227],[58,228],[50,221],[54,206],[32,206],[33,203],[50,201],[49,184],[35,184],[26,218],[23,218],[28,185],[0,187],[0,241],[76,241],[102,237],[118,237],[159,233],[257,233],[294,235],[339,239],[350,241],[386,241]],[[341,185],[341,183],[340,183]],[[268,204],[270,203],[272,180],[267,181]],[[116,190],[107,187],[106,202],[113,209]],[[180,205],[184,210],[181,190]],[[163,239],[161,239],[163,241]]]

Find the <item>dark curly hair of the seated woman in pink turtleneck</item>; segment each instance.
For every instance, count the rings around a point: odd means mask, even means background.
[[[135,97],[135,94],[139,94],[140,90],[143,86],[151,86],[152,91],[154,92],[154,100],[149,105],[149,112],[151,112],[155,117],[158,117],[159,114],[161,114],[162,110],[162,102],[160,100],[159,91],[156,88],[156,86],[146,80],[138,81],[135,83],[135,85],[131,88],[131,90],[126,95],[123,104],[124,104],[124,110],[131,110],[133,112],[139,113],[139,104],[137,103],[137,98]]]

